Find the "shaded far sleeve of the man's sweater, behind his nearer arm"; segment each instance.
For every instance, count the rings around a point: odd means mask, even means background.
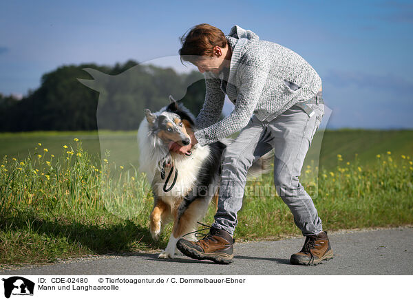
[[[218,122],[224,106],[224,99],[225,94],[221,90],[220,79],[209,78],[205,74],[205,100],[200,113],[195,119],[197,128],[202,129]]]

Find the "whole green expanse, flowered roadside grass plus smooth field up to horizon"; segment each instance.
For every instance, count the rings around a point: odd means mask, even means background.
[[[301,181],[326,230],[413,224],[413,131],[317,139]],[[170,225],[159,242],[149,234],[153,197],[136,169],[135,132],[1,133],[0,144],[0,268],[166,246]],[[248,182],[235,239],[299,234],[273,174]]]

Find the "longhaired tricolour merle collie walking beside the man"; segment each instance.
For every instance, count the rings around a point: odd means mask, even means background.
[[[138,129],[140,171],[147,174],[154,198],[149,217],[153,239],[158,240],[162,228],[173,222],[167,248],[159,255],[165,259],[178,254],[176,242],[181,237],[196,240],[197,222],[207,213],[213,197],[218,197],[222,152],[232,141],[196,144],[187,155],[169,151],[171,142],[189,144],[188,133],[196,128],[193,114],[172,96],[169,99],[171,103],[156,113],[145,109],[146,118]],[[269,171],[272,159],[273,153],[267,153],[257,160],[248,176]]]

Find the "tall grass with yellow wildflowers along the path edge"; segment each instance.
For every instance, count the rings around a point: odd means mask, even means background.
[[[324,228],[413,224],[413,162],[380,153],[370,167],[337,155],[331,170],[318,172],[306,189],[314,195]],[[0,264],[45,263],[77,257],[166,246],[171,226],[153,242],[148,217],[153,197],[145,175],[116,166],[106,153],[101,164],[77,138],[54,156],[41,143],[19,161],[0,166]],[[318,182],[317,182],[318,178]],[[317,197],[316,197],[317,196]],[[211,206],[204,222],[213,222]],[[299,235],[293,216],[277,197],[273,174],[248,182],[236,239]]]

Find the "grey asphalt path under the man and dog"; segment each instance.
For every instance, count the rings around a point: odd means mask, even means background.
[[[157,253],[100,255],[58,264],[2,270],[0,275],[413,275],[413,228],[329,233],[334,259],[293,266],[289,258],[304,238],[235,243],[233,264]]]

